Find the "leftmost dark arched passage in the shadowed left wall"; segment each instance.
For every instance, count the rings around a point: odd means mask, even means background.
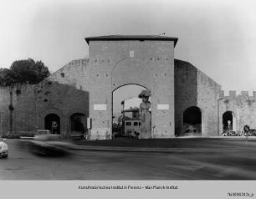
[[[59,115],[49,114],[44,118],[44,129],[50,130],[52,134],[60,134],[60,118]]]

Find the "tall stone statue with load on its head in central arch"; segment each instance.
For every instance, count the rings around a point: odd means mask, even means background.
[[[148,100],[151,96],[150,90],[142,90],[139,98],[142,99],[139,115],[141,120],[141,133],[139,139],[151,138],[151,102]]]

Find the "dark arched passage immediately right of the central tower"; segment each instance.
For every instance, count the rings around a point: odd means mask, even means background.
[[[183,133],[202,134],[202,112],[197,106],[183,112]]]

